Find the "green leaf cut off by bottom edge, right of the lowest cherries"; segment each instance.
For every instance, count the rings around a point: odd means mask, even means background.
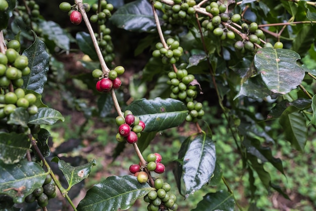
[[[192,211],[234,211],[235,200],[231,193],[220,190],[207,193]]]

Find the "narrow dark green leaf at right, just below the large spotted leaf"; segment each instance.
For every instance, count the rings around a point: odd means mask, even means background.
[[[267,116],[267,119],[272,120],[279,118],[280,116],[286,116],[289,113],[293,113],[295,111],[306,109],[310,106],[311,100],[305,98],[299,98],[292,102],[288,100],[283,100],[276,104],[270,111]]]

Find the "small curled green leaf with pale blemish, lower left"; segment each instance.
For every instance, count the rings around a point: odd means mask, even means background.
[[[51,161],[57,162],[58,168],[63,172],[69,185],[67,191],[69,191],[72,186],[80,183],[84,179],[87,179],[92,166],[96,165],[95,159],[76,167],[69,165],[64,160],[60,160],[58,157],[52,158]]]

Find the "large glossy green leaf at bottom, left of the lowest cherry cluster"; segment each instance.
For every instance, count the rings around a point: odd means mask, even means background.
[[[134,176],[112,176],[88,190],[77,207],[78,211],[117,211],[131,207],[136,199],[150,190],[147,183],[140,184]]]

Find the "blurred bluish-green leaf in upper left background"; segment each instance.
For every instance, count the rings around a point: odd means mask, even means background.
[[[70,50],[71,40],[69,34],[58,23],[54,21],[41,21],[39,27],[42,29],[43,35],[46,35],[49,40],[53,40],[59,48],[66,51]]]

